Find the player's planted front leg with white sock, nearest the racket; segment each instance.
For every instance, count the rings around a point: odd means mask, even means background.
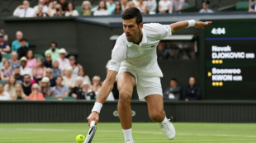
[[[132,142],[131,135],[131,108],[130,100],[133,87],[135,86],[135,76],[129,72],[122,72],[117,78],[117,87],[119,90],[119,102],[117,105],[121,126],[123,128],[126,141]]]

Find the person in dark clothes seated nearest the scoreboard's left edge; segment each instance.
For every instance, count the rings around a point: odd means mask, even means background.
[[[201,93],[199,87],[196,85],[195,77],[189,77],[188,84],[183,92],[183,99],[185,101],[200,99]]]

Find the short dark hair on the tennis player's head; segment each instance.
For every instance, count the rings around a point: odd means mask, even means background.
[[[142,22],[141,12],[136,7],[130,7],[126,9],[126,11],[122,13],[121,18],[123,20],[130,20],[132,18],[136,18],[137,25],[139,25]]]

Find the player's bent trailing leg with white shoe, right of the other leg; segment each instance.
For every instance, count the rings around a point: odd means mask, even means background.
[[[168,139],[173,139],[176,131],[172,122],[165,117],[163,96],[149,95],[145,97],[145,100],[148,104],[149,117],[153,121],[159,122],[159,126],[162,128]]]

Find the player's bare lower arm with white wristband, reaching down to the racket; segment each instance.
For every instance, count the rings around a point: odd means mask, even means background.
[[[111,70],[107,71],[107,77],[103,82],[102,88],[97,95],[96,102],[94,104],[94,107],[92,108],[92,113],[87,118],[89,125],[92,121],[95,121],[95,124],[97,125],[102,104],[106,101],[107,96],[110,94],[111,90],[113,89],[113,85],[116,79],[116,74],[117,74],[117,71],[111,71]]]

